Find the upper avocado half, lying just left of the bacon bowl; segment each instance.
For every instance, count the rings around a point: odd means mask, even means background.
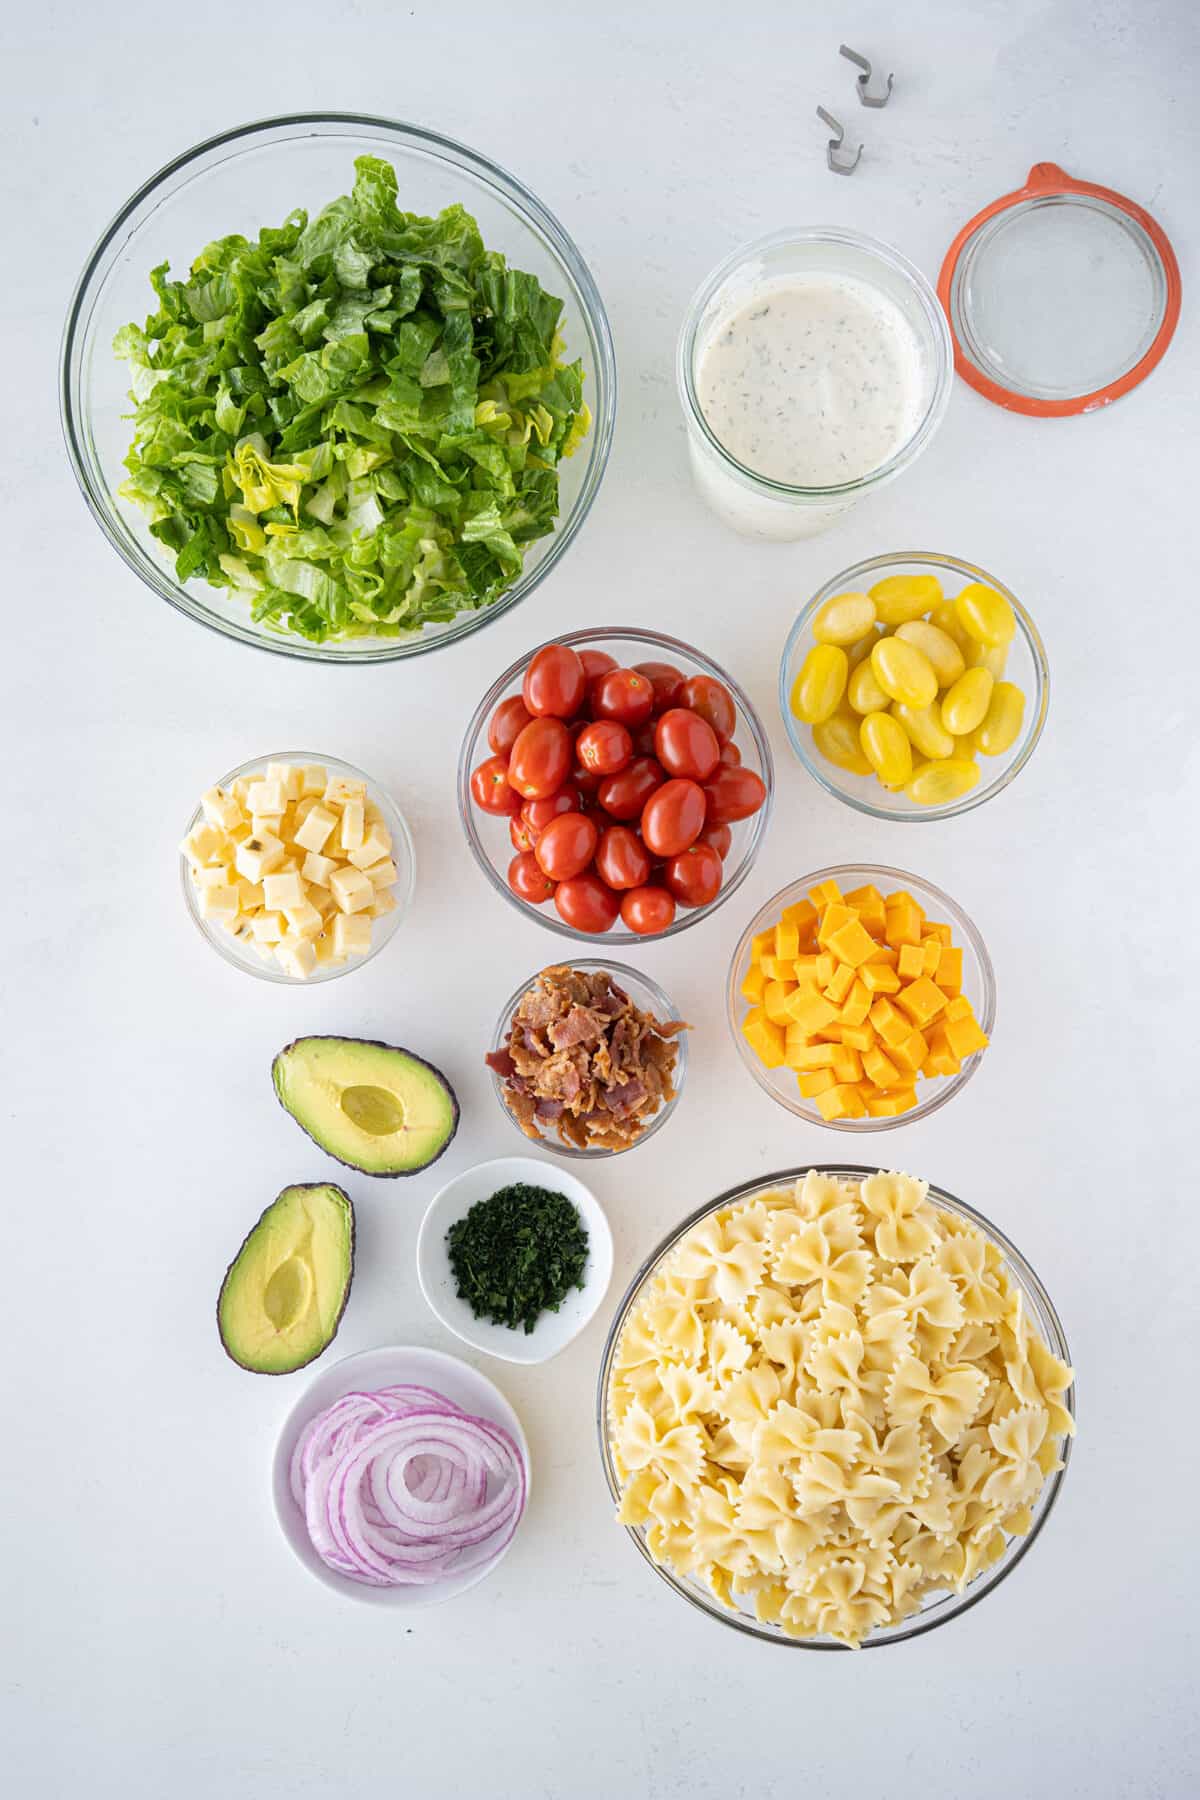
[[[281,1107],[327,1156],[363,1175],[416,1175],[459,1129],[432,1062],[362,1037],[297,1037],[272,1064]]]

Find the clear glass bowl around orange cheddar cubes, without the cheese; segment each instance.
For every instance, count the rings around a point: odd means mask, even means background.
[[[786,1107],[788,1112],[795,1112],[799,1120],[808,1120],[810,1125],[820,1125],[824,1130],[849,1132],[894,1130],[898,1125],[914,1125],[918,1120],[928,1118],[930,1112],[937,1112],[937,1109],[945,1107],[948,1100],[954,1100],[955,1094],[963,1093],[972,1075],[988,1055],[986,1049],[977,1049],[970,1055],[957,1075],[943,1075],[932,1080],[921,1078],[918,1082],[918,1103],[909,1112],[900,1112],[896,1118],[878,1120],[824,1120],[811,1100],[801,1098],[795,1085],[795,1069],[768,1069],[763,1062],[759,1062],[743,1037],[741,1021],[748,1013],[750,1006],[741,994],[741,983],[750,968],[750,947],[756,934],[759,931],[770,931],[772,925],[777,925],[779,914],[784,907],[802,900],[810,887],[817,887],[819,882],[828,880],[835,880],[842,893],[849,893],[855,887],[865,887],[869,884],[874,884],[880,893],[894,893],[898,887],[907,887],[928,916],[943,920],[950,925],[954,931],[954,943],[963,950],[963,994],[975,1008],[979,1024],[988,1037],[991,1037],[997,1015],[997,977],[991,967],[991,958],[988,956],[988,947],[981,938],[977,925],[972,918],[968,918],[957,900],[952,900],[950,895],[941,891],[941,887],[934,887],[932,882],[921,880],[919,875],[909,875],[907,869],[889,869],[885,864],[878,862],[846,862],[838,868],[813,869],[811,875],[802,875],[788,887],[781,887],[777,895],[772,895],[772,898],[759,907],[738,940],[738,949],[734,950],[729,965],[729,981],[725,985],[725,1015],[729,1019],[729,1030],[732,1031],[734,1044],[738,1046],[738,1055],[759,1087],[768,1093],[772,1100],[777,1100],[781,1107]]]

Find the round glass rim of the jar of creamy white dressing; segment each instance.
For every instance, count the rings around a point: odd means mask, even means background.
[[[774,481],[770,475],[759,473],[747,463],[739,463],[738,457],[725,448],[705,419],[693,373],[696,329],[709,301],[718,292],[721,283],[752,257],[763,256],[766,250],[783,250],[788,245],[801,243],[842,245],[853,250],[864,250],[867,256],[874,256],[882,263],[887,263],[896,274],[903,275],[914,290],[928,324],[930,337],[936,344],[934,392],[912,437],[909,437],[894,452],[894,455],[887,459],[887,463],[880,463],[878,468],[873,468],[865,475],[858,475],[855,481],[837,482],[829,488],[797,488],[784,481]],[[932,283],[921,274],[916,263],[910,263],[909,257],[892,245],[883,243],[878,238],[871,238],[865,232],[849,230],[840,225],[797,225],[768,232],[765,238],[756,238],[752,243],[739,245],[736,250],[730,250],[723,263],[718,263],[718,266],[705,275],[687,302],[687,311],[684,313],[684,324],[680,328],[675,353],[675,380],[689,423],[702,432],[705,443],[720,455],[725,468],[732,470],[752,488],[795,500],[828,500],[837,499],[838,495],[853,497],[865,493],[869,488],[878,488],[882,482],[891,481],[892,475],[905,470],[921,454],[936,428],[941,425],[943,414],[950,405],[950,392],[954,389],[954,338],[950,337],[950,324]]]

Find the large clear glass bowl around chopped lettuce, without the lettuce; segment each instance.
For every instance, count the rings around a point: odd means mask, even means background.
[[[207,581],[178,581],[169,553],[149,535],[140,508],[121,500],[130,448],[130,371],[113,356],[121,326],[153,310],[149,272],[178,274],[214,238],[279,225],[293,207],[315,214],[353,180],[354,157],[387,158],[399,203],[439,212],[461,202],[489,250],[527,270],[563,301],[567,355],[585,371],[592,428],[560,464],[556,529],[529,545],[516,581],[491,605],[461,612],[417,635],[351,637],[309,644],[255,625],[243,599]],[[551,572],[587,518],[612,445],[617,371],[604,306],[558,220],[515,176],[453,139],[360,113],[297,113],[237,126],[207,139],[153,175],[121,209],[92,250],[70,302],[63,337],[61,412],[76,479],[95,522],[124,563],[160,599],[225,637],[313,662],[390,662],[421,655],[500,617]]]

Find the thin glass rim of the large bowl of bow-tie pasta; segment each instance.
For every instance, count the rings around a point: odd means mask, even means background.
[[[793,1181],[799,1181],[802,1175],[810,1174],[810,1170],[817,1175],[838,1175],[844,1179],[846,1177],[862,1179],[865,1175],[876,1174],[873,1166],[864,1163],[801,1163],[795,1168],[781,1168],[775,1170],[774,1174],[754,1175],[750,1181],[741,1181],[738,1183],[738,1186],[727,1188],[725,1193],[720,1193],[714,1201],[705,1201],[705,1204],[698,1206],[694,1213],[689,1213],[687,1219],[682,1219],[676,1226],[673,1226],[667,1237],[658,1244],[658,1247],[653,1249],[649,1256],[646,1256],[637,1274],[631,1278],[630,1285],[621,1296],[621,1303],[613,1314],[613,1321],[608,1327],[604,1350],[601,1354],[599,1377],[596,1384],[596,1431],[599,1438],[601,1463],[604,1467],[604,1480],[608,1481],[608,1492],[613,1503],[619,1505],[621,1501],[621,1483],[617,1480],[617,1471],[612,1465],[612,1454],[608,1447],[608,1404],[606,1404],[608,1382],[612,1377],[613,1352],[617,1348],[621,1332],[624,1330],[624,1323],[630,1316],[630,1310],[633,1307],[633,1301],[637,1300],[642,1283],[655,1273],[658,1264],[671,1255],[680,1238],[685,1237],[685,1233],[691,1231],[693,1226],[698,1226],[711,1213],[720,1211],[723,1206],[734,1206],[738,1204],[738,1201],[743,1201],[754,1193],[763,1193],[770,1188],[781,1188]],[[1067,1334],[1063,1330],[1061,1319],[1058,1318],[1054,1303],[1047,1294],[1045,1287],[1042,1285],[1038,1273],[1022,1256],[1016,1246],[1004,1235],[1004,1231],[1000,1231],[999,1226],[995,1226],[986,1217],[986,1213],[977,1211],[973,1206],[968,1206],[966,1201],[959,1201],[957,1195],[950,1193],[946,1188],[939,1188],[932,1181],[928,1183],[928,1197],[930,1201],[934,1201],[936,1206],[957,1213],[963,1219],[970,1219],[972,1224],[979,1226],[979,1229],[984,1231],[993,1244],[997,1244],[997,1247],[1004,1253],[1004,1258],[1009,1264],[1011,1273],[1018,1278],[1022,1291],[1029,1298],[1033,1298],[1038,1309],[1038,1327],[1043,1330],[1049,1348],[1063,1363],[1070,1363]],[[1070,1390],[1067,1391],[1065,1404],[1067,1411],[1074,1418],[1076,1417],[1074,1381],[1070,1384]],[[937,1625],[946,1625],[952,1618],[961,1618],[963,1613],[968,1613],[973,1606],[979,1606],[979,1602],[984,1600],[993,1588],[997,1588],[1007,1575],[1011,1575],[1016,1564],[1022,1562],[1027,1552],[1033,1548],[1034,1541],[1042,1534],[1045,1521],[1054,1510],[1054,1503],[1058,1501],[1058,1494],[1061,1490],[1063,1478],[1067,1474],[1067,1465],[1070,1462],[1072,1445],[1074,1445],[1074,1436],[1065,1436],[1060,1451],[1063,1467],[1056,1469],[1054,1474],[1049,1476],[1049,1480],[1042,1487],[1042,1492],[1038,1496],[1038,1510],[1034,1514],[1033,1525],[1029,1526],[1024,1537],[1009,1537],[1004,1557],[997,1564],[977,1575],[975,1580],[972,1580],[963,1589],[963,1593],[955,1593],[954,1589],[950,1589],[948,1593],[939,1595],[939,1598],[923,1613],[914,1613],[909,1622],[903,1622],[903,1629],[894,1629],[889,1636],[871,1634],[869,1638],[864,1638],[862,1649],[882,1651],[892,1643],[907,1643],[909,1638],[919,1638],[927,1631],[934,1631]],[[655,1575],[658,1575],[667,1584],[667,1588],[673,1588],[675,1593],[682,1595],[684,1600],[694,1606],[698,1613],[705,1613],[709,1618],[716,1618],[720,1624],[729,1625],[734,1631],[745,1633],[747,1636],[757,1638],[759,1642],[777,1643],[783,1649],[849,1651],[847,1643],[837,1643],[833,1640],[826,1642],[820,1638],[790,1638],[783,1631],[775,1631],[770,1625],[761,1625],[756,1618],[750,1618],[745,1613],[730,1613],[716,1598],[712,1598],[711,1602],[702,1598],[700,1593],[691,1589],[685,1580],[682,1580],[671,1570],[662,1568],[660,1562],[655,1562],[653,1555],[649,1553],[649,1548],[646,1546],[646,1541],[642,1539],[640,1532],[635,1526],[626,1525],[624,1530],[633,1539],[642,1559],[649,1564]]]

